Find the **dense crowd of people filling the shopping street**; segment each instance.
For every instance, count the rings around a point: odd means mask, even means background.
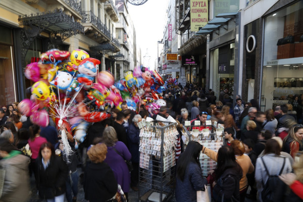
[[[296,102],[297,98],[294,96]],[[121,110],[104,109],[111,118],[90,124],[78,149],[72,132],[56,127],[52,119],[48,126],[40,127],[18,112],[18,103],[3,106],[0,171],[5,172],[0,172],[4,177],[0,200],[27,201],[30,191],[35,191],[47,201],[64,201],[65,197],[69,202],[77,201],[78,181],[90,202],[112,201],[118,184],[128,198],[130,189],[139,188],[138,123],[157,116],[173,117],[178,128],[185,121],[194,125],[195,120],[201,125],[193,129],[208,128],[207,120],[224,127],[225,145],[217,152],[195,141],[183,149],[178,130],[177,201],[196,201],[196,191],[204,190],[209,183],[214,201],[243,202],[245,197],[264,202],[303,200],[303,125],[297,124],[300,116],[291,113],[298,106],[287,104],[262,112],[254,99],[244,103],[237,95],[233,104],[227,89],[217,99],[211,89],[205,92],[191,84],[167,88],[163,99],[166,106],[156,114],[148,113],[144,106],[136,113],[126,103],[121,104]],[[74,151],[68,158],[62,155],[62,131]],[[201,152],[217,162],[207,179],[199,164]],[[133,169],[129,169],[128,161]],[[31,185],[30,175],[35,179]]]

